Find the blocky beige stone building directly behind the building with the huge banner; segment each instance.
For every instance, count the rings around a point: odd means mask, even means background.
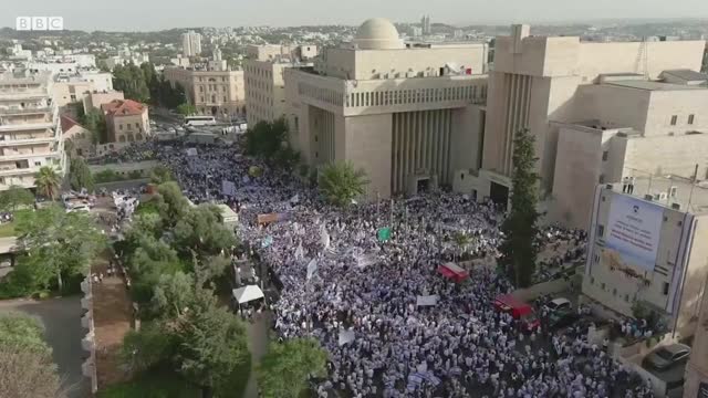
[[[708,178],[708,75],[601,75],[574,96],[573,122],[551,122],[558,150],[551,216],[587,228],[597,184],[671,175]]]

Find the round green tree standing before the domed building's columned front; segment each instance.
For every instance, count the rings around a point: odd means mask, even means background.
[[[317,182],[322,196],[330,203],[345,207],[364,195],[368,180],[363,169],[355,169],[351,163],[337,161],[322,168]]]

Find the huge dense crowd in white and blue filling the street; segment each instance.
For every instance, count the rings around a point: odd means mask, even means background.
[[[327,377],[313,381],[321,397],[653,396],[581,327],[528,335],[494,310],[493,298],[512,285],[496,270],[503,213],[493,203],[436,191],[337,209],[238,145],[190,156],[179,143],[131,151],[165,164],[192,202],[225,202],[239,213],[241,240],[281,287],[271,303],[278,336],[312,336],[329,352]],[[263,174],[251,177],[251,166]],[[223,181],[235,188],[228,196]],[[279,217],[262,224],[262,213]],[[549,227],[540,238],[554,253],[544,256],[549,265],[584,255],[582,231]],[[437,272],[461,258],[471,259],[467,281]],[[435,298],[418,305],[419,297]]]

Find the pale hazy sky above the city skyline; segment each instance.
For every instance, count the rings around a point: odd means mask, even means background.
[[[423,13],[451,24],[708,18],[708,0],[0,0],[0,27],[20,15],[60,15],[65,29],[81,30],[412,22]]]

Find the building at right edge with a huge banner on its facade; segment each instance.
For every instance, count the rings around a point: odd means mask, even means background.
[[[673,186],[679,192],[667,196]],[[708,276],[708,189],[690,186],[641,179],[632,193],[598,186],[583,277],[592,302],[625,316],[638,303],[677,339],[696,333]]]

